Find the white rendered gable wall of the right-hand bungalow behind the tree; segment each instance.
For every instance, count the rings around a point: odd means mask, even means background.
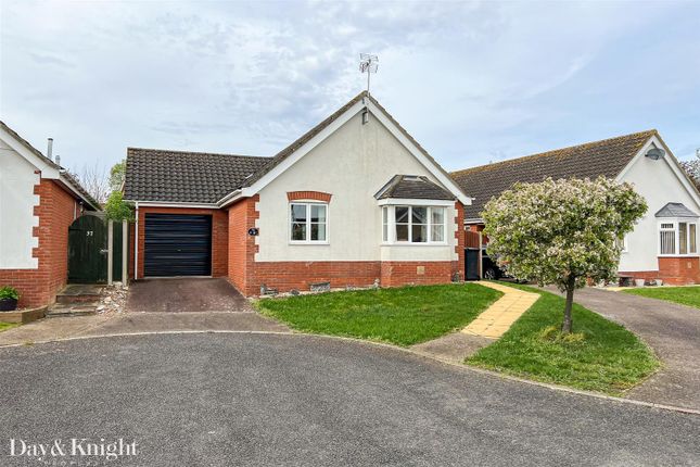
[[[647,148],[642,153],[646,150]],[[621,181],[634,185],[635,191],[647,200],[649,207],[635,229],[627,235],[627,252],[620,257],[619,270],[659,269],[659,219],[654,214],[666,203],[683,203],[690,211],[700,214],[700,205],[684,188],[670,164],[673,161],[669,156],[658,161],[640,156],[621,178]]]

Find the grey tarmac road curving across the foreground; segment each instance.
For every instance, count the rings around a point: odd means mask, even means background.
[[[114,465],[698,465],[700,417],[291,335],[0,349],[11,438],[136,441]],[[98,464],[91,464],[98,465]],[[99,465],[103,465],[100,463]]]

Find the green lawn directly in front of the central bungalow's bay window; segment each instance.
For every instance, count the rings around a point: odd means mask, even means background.
[[[467,326],[500,295],[467,283],[263,299],[257,306],[300,331],[408,346]]]

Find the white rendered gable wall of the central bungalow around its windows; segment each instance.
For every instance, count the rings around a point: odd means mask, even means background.
[[[259,192],[258,262],[453,261],[455,209],[447,209],[447,245],[381,247],[381,207],[374,193],[394,175],[424,175],[436,181],[373,116],[359,114]],[[329,244],[290,244],[288,191],[331,193]]]

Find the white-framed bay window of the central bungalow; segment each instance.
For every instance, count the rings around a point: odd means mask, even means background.
[[[384,243],[445,244],[444,206],[387,205],[382,207]]]

